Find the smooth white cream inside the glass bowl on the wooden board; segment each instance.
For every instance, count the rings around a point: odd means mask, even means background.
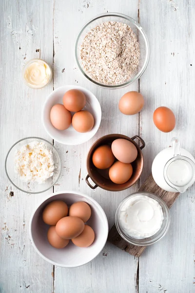
[[[160,230],[163,212],[155,199],[140,194],[124,203],[118,221],[126,235],[137,239],[147,238]]]

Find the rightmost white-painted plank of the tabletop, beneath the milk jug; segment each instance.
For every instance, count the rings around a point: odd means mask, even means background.
[[[177,136],[181,146],[195,155],[195,2],[140,1],[140,24],[151,47],[148,69],[140,80],[146,101],[141,112],[140,135],[146,141],[143,181],[155,155]],[[192,64],[192,66],[190,65]],[[154,126],[156,107],[168,106],[176,114],[176,128],[162,133]],[[159,243],[139,259],[139,293],[195,292],[195,186],[181,194],[171,209],[171,227]]]

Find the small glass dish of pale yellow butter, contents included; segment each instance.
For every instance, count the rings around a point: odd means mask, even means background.
[[[49,84],[52,79],[51,66],[42,59],[29,60],[22,71],[24,83],[39,89]]]

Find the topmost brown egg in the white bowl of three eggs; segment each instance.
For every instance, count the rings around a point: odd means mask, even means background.
[[[64,107],[72,112],[78,112],[86,104],[86,97],[78,89],[70,89],[63,96]]]

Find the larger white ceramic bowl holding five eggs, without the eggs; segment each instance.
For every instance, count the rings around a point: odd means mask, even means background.
[[[92,215],[87,224],[95,232],[95,240],[91,246],[80,248],[70,241],[65,248],[56,249],[49,244],[47,240],[49,225],[43,222],[42,211],[48,203],[54,200],[63,200],[68,206],[77,201],[89,204]],[[59,267],[75,268],[90,262],[103,249],[108,237],[108,221],[103,209],[90,196],[78,191],[59,191],[50,195],[34,211],[30,219],[29,232],[35,250],[44,260]]]

